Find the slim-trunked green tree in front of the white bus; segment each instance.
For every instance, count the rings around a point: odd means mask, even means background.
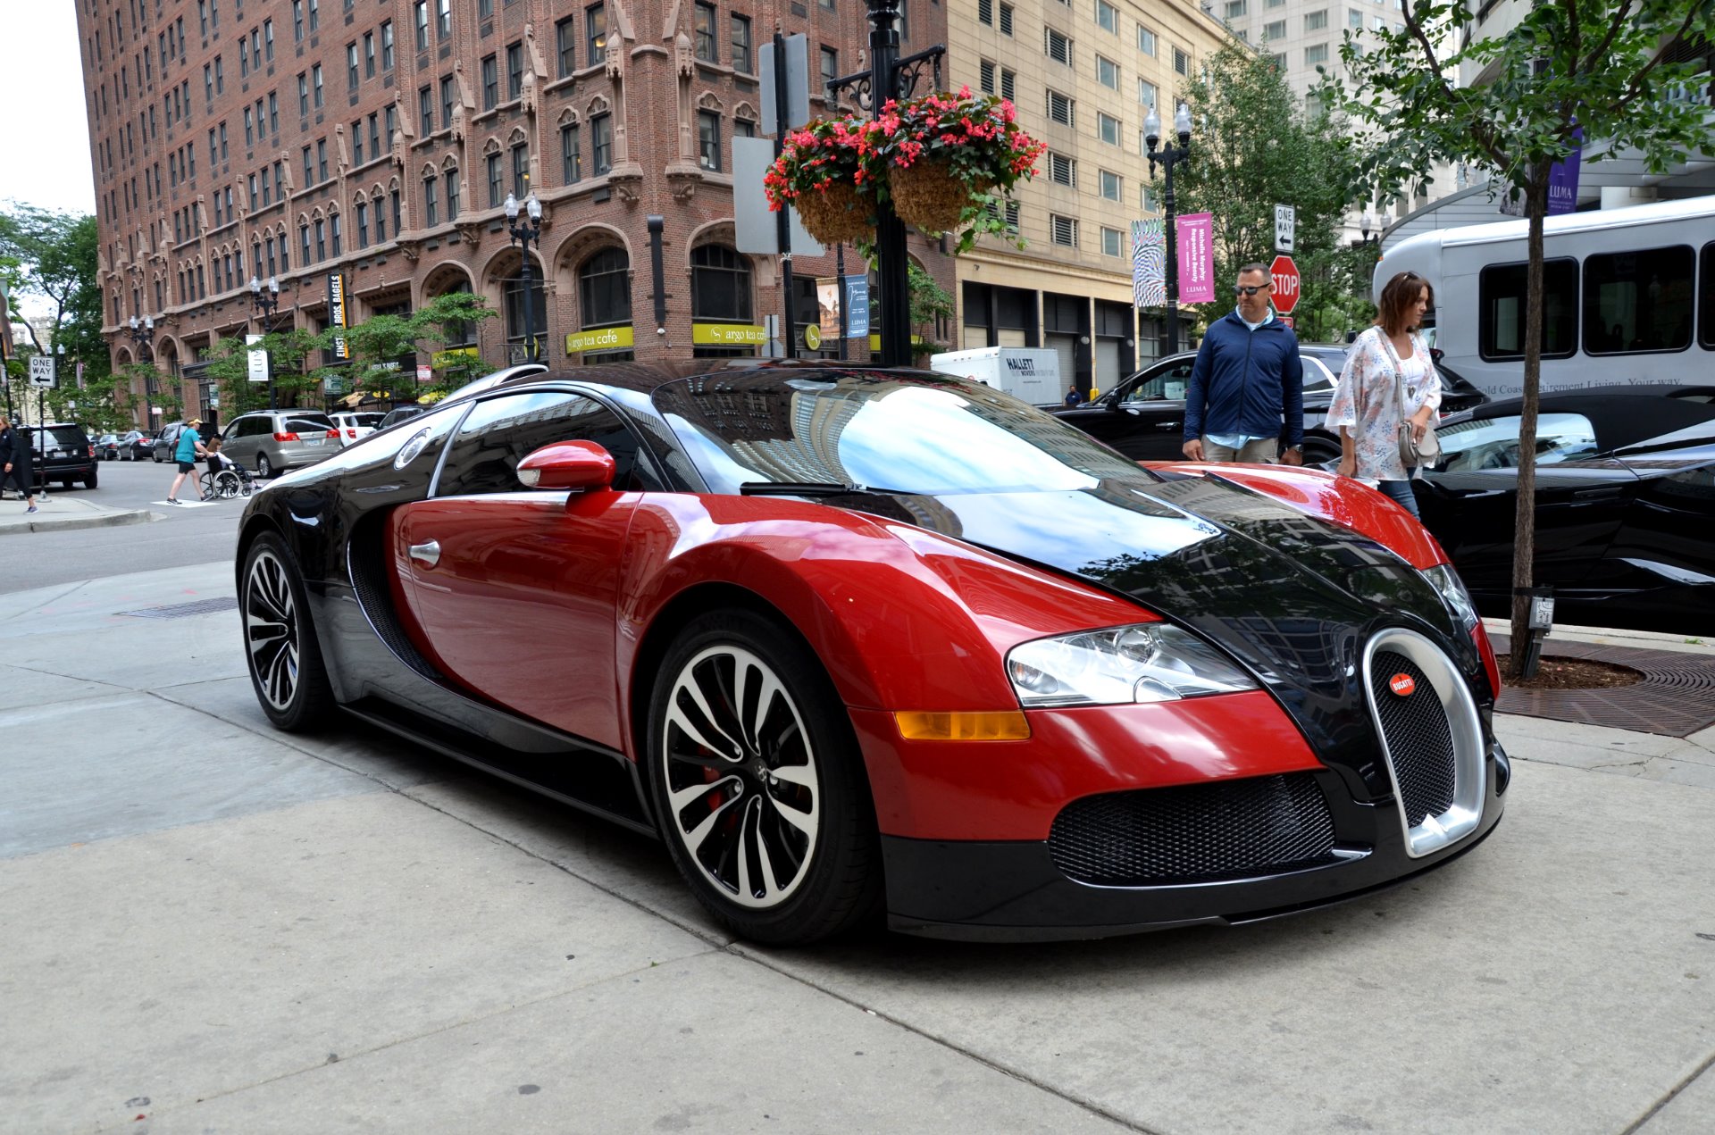
[[[1345,82],[1321,93],[1372,134],[1362,178],[1391,197],[1422,183],[1435,161],[1466,159],[1523,199],[1528,219],[1525,381],[1519,423],[1518,516],[1513,547],[1511,677],[1523,674],[1537,528],[1537,401],[1542,382],[1542,221],[1556,163],[1583,151],[1595,163],[1641,156],[1652,173],[1708,147],[1701,60],[1669,62],[1679,45],[1715,39],[1710,0],[1537,0],[1519,22],[1480,38],[1475,9],[1417,0],[1399,33],[1350,33],[1341,48]],[[1494,75],[1456,86],[1461,69]],[[1590,144],[1586,144],[1586,141]]]

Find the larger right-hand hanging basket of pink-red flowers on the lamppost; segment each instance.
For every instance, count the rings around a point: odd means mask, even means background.
[[[930,235],[959,233],[959,252],[978,233],[1005,233],[991,194],[1034,177],[1048,147],[1019,129],[1010,101],[971,87],[887,103],[868,144],[887,165],[899,216]]]

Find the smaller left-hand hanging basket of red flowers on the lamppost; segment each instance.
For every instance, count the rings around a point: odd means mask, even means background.
[[[875,123],[852,117],[818,118],[785,137],[763,175],[775,213],[791,204],[821,243],[870,240],[880,163],[866,139]]]

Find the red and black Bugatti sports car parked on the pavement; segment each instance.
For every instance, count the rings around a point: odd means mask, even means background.
[[[278,727],[338,706],[659,833],[765,943],[1271,917],[1470,850],[1509,778],[1398,506],[945,375],[502,377],[257,494],[237,585]]]

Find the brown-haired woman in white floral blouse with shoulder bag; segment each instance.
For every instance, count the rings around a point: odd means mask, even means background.
[[[1417,334],[1434,298],[1429,281],[1417,273],[1399,273],[1387,281],[1375,326],[1360,334],[1346,353],[1346,367],[1327,408],[1327,425],[1339,430],[1339,475],[1381,482],[1377,487],[1411,516],[1417,516],[1411,478],[1418,470],[1406,470],[1399,461],[1399,396],[1394,387],[1405,384],[1411,432],[1422,437],[1430,422],[1439,420],[1441,408],[1441,375]]]

